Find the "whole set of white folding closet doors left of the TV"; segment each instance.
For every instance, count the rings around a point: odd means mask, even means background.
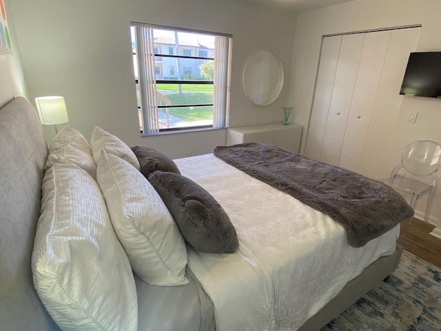
[[[307,156],[354,172],[365,170],[362,161],[370,162],[381,143],[377,138],[387,139],[384,128],[395,124],[402,75],[419,31],[323,37]]]

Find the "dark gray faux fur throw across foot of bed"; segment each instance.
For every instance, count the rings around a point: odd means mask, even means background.
[[[389,186],[262,143],[216,146],[216,157],[260,181],[290,194],[343,225],[353,247],[413,216],[412,208]]]

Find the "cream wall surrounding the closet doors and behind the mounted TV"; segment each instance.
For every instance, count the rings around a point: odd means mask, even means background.
[[[439,0],[356,0],[300,12],[295,30],[289,95],[290,103],[296,107],[294,121],[308,127],[323,34],[422,24],[416,51],[441,51],[440,12]],[[401,81],[404,68],[398,74],[398,81]],[[384,121],[369,128],[360,165],[360,172],[368,177],[388,177],[400,162],[402,148],[412,141],[431,139],[441,142],[441,100],[402,97],[398,96],[400,86],[396,90],[397,95],[391,98],[399,98],[398,112],[391,117],[385,107]],[[407,123],[410,111],[419,112],[415,124]],[[306,134],[307,130],[304,130],[301,150],[305,150]],[[441,181],[441,177],[438,179]],[[425,201],[418,203],[416,208],[424,211]],[[441,192],[435,197],[432,216],[431,221],[441,227]]]

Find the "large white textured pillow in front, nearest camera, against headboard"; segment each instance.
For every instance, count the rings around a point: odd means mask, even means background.
[[[130,263],[98,184],[76,165],[57,163],[45,172],[32,274],[61,329],[137,329]]]

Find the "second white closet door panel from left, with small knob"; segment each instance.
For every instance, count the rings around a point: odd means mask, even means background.
[[[363,33],[346,34],[342,37],[325,136],[320,151],[320,160],[326,163],[338,165],[338,159],[340,159],[363,41],[365,41]]]

